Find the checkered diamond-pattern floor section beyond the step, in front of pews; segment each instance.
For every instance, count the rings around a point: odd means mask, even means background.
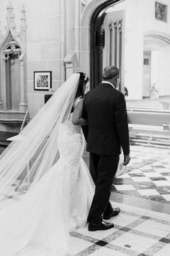
[[[131,146],[131,157],[112,191],[170,203],[170,149]]]

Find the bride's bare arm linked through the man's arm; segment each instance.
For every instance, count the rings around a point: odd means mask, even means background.
[[[84,101],[81,100],[79,103],[76,104],[76,108],[74,108],[73,116],[72,116],[72,123],[74,125],[87,125],[87,119],[82,118],[82,111],[83,111],[83,103]]]

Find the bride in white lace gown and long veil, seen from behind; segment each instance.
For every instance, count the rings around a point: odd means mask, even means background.
[[[1,154],[1,256],[69,255],[69,231],[86,224],[94,184],[71,118],[88,81],[72,74]]]

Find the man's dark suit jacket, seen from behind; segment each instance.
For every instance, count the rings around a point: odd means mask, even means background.
[[[128,117],[125,96],[107,83],[86,93],[83,117],[89,121],[84,127],[86,150],[99,155],[130,153]]]

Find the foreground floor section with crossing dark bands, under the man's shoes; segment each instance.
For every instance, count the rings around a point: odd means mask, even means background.
[[[84,227],[71,232],[73,255],[169,256],[169,215],[120,203],[114,206],[122,210],[111,219],[113,229],[89,232]]]

